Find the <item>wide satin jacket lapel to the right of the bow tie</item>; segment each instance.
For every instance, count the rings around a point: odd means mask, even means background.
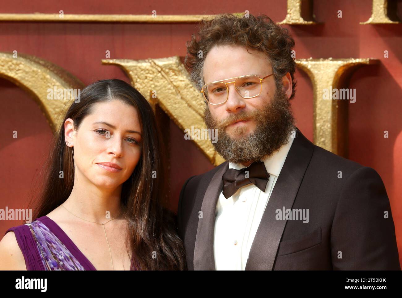
[[[285,163],[265,208],[251,245],[246,270],[272,270],[287,220],[276,220],[275,210],[290,209],[310,163],[314,145],[296,130]]]

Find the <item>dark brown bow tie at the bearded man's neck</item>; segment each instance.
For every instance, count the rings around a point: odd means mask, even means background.
[[[246,173],[246,171],[248,171],[248,173]],[[268,179],[269,173],[263,161],[254,161],[250,166],[240,170],[227,169],[222,176],[222,181],[224,182],[223,194],[227,199],[233,196],[240,187],[250,183],[254,184],[262,192],[265,192]]]

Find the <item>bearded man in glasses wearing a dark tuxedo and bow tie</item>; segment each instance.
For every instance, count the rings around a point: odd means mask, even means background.
[[[201,21],[198,35],[185,63],[226,162],[180,192],[188,269],[400,270],[377,172],[315,146],[294,126],[287,31],[267,16],[222,14]]]

